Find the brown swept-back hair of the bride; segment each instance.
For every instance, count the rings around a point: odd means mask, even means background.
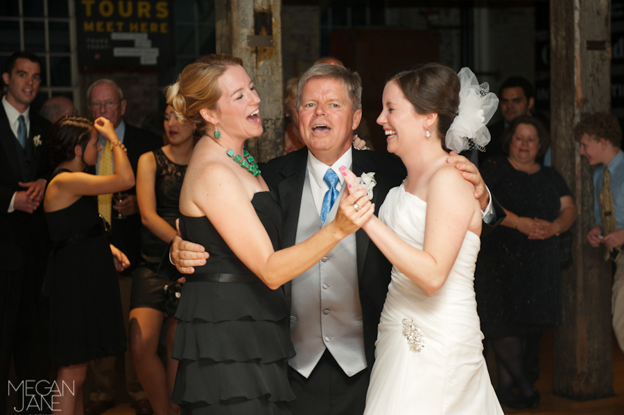
[[[400,71],[388,82],[397,82],[418,114],[437,113],[437,134],[444,145],[447,131],[457,116],[460,80],[446,65],[428,63]]]

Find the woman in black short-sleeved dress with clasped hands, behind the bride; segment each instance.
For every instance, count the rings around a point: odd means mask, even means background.
[[[517,409],[539,403],[525,367],[526,339],[561,321],[559,235],[576,219],[563,177],[535,161],[547,149],[544,126],[520,116],[503,134],[508,157],[491,157],[480,169],[507,218],[481,243],[475,272],[478,315],[496,353],[496,394]]]

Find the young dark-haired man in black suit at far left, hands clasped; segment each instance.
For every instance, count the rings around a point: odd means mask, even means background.
[[[6,412],[11,357],[18,385],[49,379],[48,312],[41,288],[51,245],[41,206],[50,173],[51,124],[31,111],[41,84],[39,58],[14,53],[2,80],[7,91],[0,109],[0,414]],[[21,397],[22,392],[10,389],[9,394]]]

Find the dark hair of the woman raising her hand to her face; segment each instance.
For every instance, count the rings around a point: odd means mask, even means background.
[[[52,126],[49,139],[50,161],[54,168],[64,161],[76,157],[74,148],[80,145],[85,154],[87,143],[94,129],[93,121],[83,116],[67,115],[60,118]]]

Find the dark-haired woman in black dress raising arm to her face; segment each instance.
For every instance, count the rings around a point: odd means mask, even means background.
[[[114,173],[84,173],[98,161],[98,132],[110,142]],[[135,184],[132,166],[114,127],[106,118],[65,116],[50,132],[55,172],[44,196],[44,211],[54,244],[46,276],[50,296],[50,360],[59,366],[57,383],[75,388],[58,397],[62,414],[83,413],[87,362],[125,350],[125,329],[115,269],[128,258],[109,245],[96,195],[128,190]]]

